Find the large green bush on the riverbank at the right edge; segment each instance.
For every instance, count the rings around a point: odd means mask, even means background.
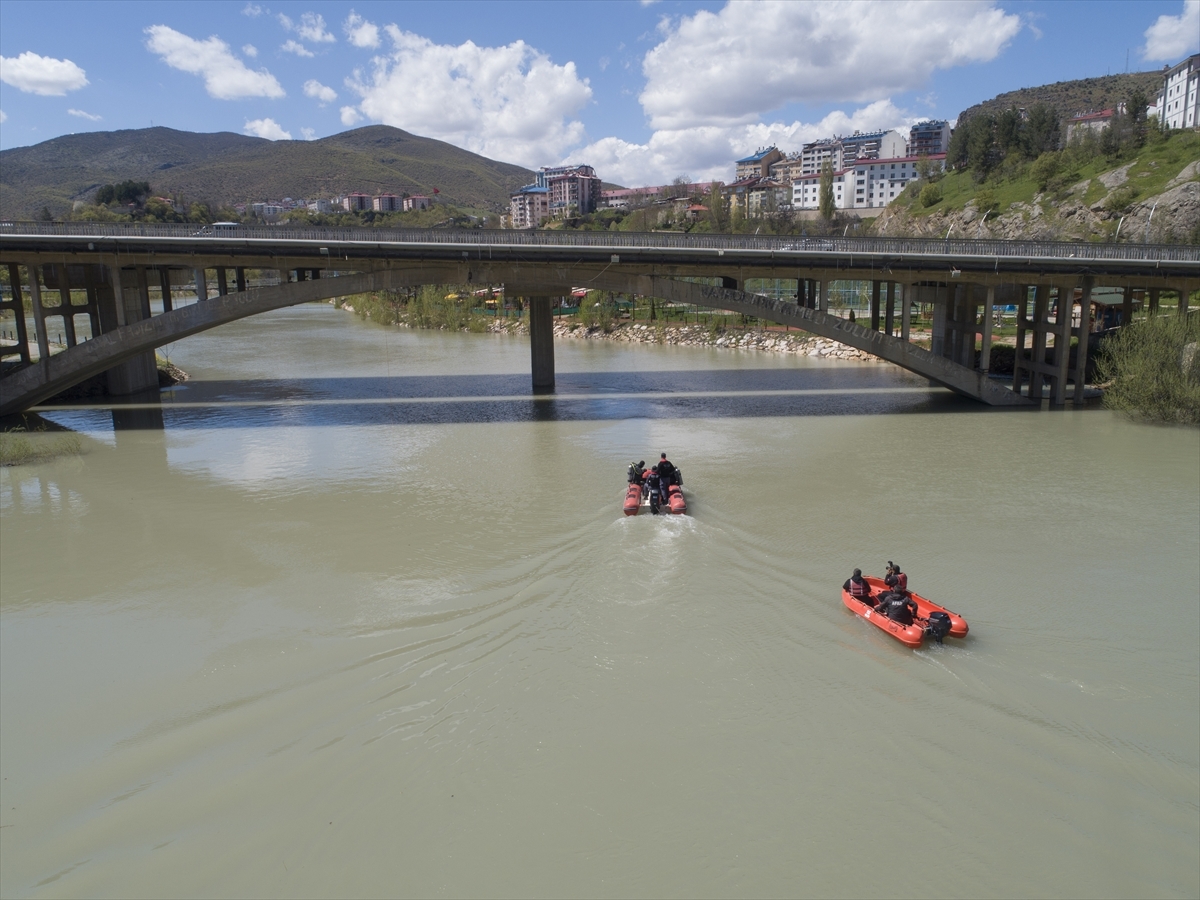
[[[1200,313],[1135,322],[1100,346],[1104,406],[1134,419],[1200,425]]]

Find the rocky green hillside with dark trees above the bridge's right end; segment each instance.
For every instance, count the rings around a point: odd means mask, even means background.
[[[1066,146],[1045,104],[979,109],[955,130],[947,173],[911,184],[875,230],[1200,244],[1200,133],[1164,131],[1146,103],[1135,89],[1127,114]]]

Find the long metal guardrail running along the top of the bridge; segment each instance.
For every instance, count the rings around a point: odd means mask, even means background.
[[[305,244],[397,244],[437,246],[592,247],[596,250],[728,250],[846,256],[925,256],[962,259],[1044,259],[1130,263],[1200,263],[1200,247],[1085,241],[936,240],[919,238],[810,238],[803,235],[673,234],[636,232],[430,230],[415,228],[289,228],[194,224],[0,222],[8,236],[92,239],[212,239]]]

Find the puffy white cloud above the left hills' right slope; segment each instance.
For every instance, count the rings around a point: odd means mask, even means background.
[[[574,62],[554,65],[523,41],[455,47],[386,31],[391,54],[374,60],[370,77],[347,82],[368,119],[526,166],[545,166],[583,139],[571,116],[592,88]]]

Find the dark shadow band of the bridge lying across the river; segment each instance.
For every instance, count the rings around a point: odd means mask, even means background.
[[[47,406],[68,424],[85,404]],[[756,416],[984,412],[894,368],[748,368],[574,372],[553,396],[527,374],[198,380],[160,407],[114,407],[114,427],[178,428],[449,425]],[[160,413],[162,424],[155,416]],[[145,413],[144,419],[139,418]],[[61,416],[66,416],[62,419]]]

